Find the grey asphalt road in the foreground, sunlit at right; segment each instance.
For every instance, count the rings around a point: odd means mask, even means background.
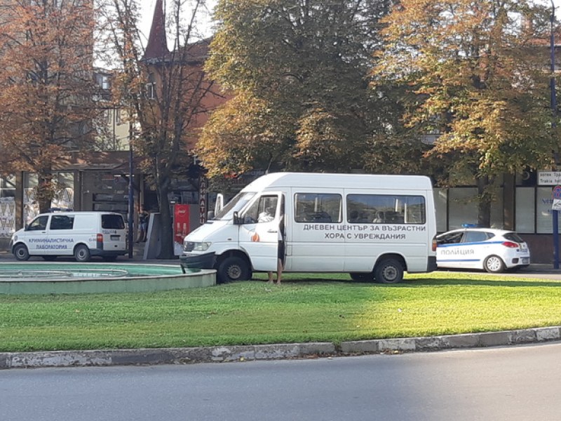
[[[561,343],[0,372],[5,421],[558,420]]]

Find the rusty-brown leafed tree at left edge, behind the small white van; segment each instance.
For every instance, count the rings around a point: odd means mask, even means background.
[[[89,1],[4,1],[0,6],[0,164],[36,173],[39,209],[57,191],[53,170],[91,146],[93,9]]]

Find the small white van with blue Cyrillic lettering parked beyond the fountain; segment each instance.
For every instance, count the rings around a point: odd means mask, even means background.
[[[91,256],[100,256],[112,261],[128,253],[127,229],[120,213],[42,213],[13,234],[10,246],[17,260],[74,256],[88,262]]]

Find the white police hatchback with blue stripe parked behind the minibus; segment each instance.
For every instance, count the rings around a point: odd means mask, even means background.
[[[504,229],[461,228],[436,236],[438,268],[485,269],[500,273],[530,264],[527,244]]]

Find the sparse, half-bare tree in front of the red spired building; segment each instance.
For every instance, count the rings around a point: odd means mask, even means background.
[[[168,19],[161,2],[151,34],[153,44],[144,46],[139,29],[139,2],[103,0],[103,44],[111,54],[116,77],[112,84],[114,101],[128,110],[135,136],[134,153],[149,188],[156,191],[161,217],[161,250],[158,258],[173,258],[173,225],[170,193],[173,180],[184,179],[194,163],[201,116],[208,112],[214,95],[212,81],[202,69],[208,43],[201,40],[196,20],[203,2],[168,2]],[[168,50],[166,35],[173,38]],[[191,179],[198,182],[198,178]],[[195,187],[198,187],[196,185]]]

